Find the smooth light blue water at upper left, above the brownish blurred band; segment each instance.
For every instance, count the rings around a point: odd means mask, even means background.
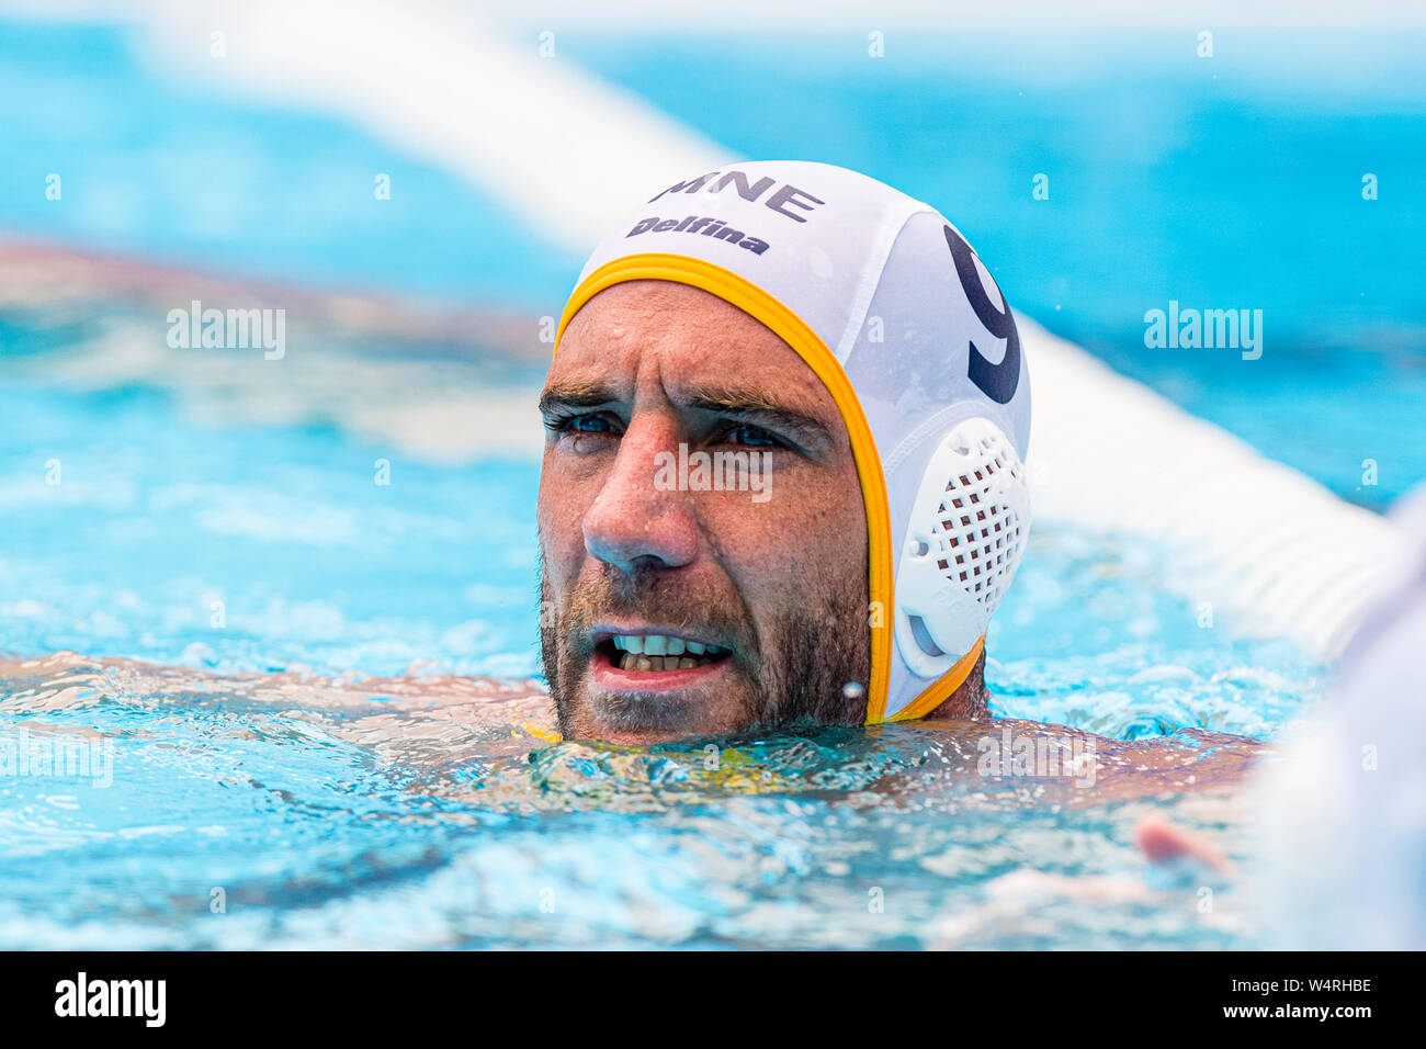
[[[334,120],[175,90],[137,43],[130,29],[0,20],[0,231],[539,313],[578,271],[453,176]],[[389,200],[374,198],[375,173]]]

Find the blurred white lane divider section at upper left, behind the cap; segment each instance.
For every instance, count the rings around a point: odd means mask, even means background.
[[[516,43],[473,4],[174,0],[148,10],[155,70],[349,120],[476,183],[576,261],[629,211],[630,186],[670,186],[733,158],[585,73],[558,39],[542,59],[538,34]]]

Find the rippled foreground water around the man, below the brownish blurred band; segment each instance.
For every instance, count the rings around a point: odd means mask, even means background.
[[[1052,804],[968,775],[978,736],[918,726],[752,741],[719,772],[700,745],[549,744],[522,718],[412,741],[364,678],[536,668],[533,461],[424,462],[321,420],[217,422],[9,331],[30,353],[0,363],[4,648],[347,675],[351,702],[314,714],[261,681],[155,688],[93,665],[0,674],[0,746],[98,729],[111,781],[0,776],[0,946],[1255,942],[1232,886],[1205,923],[1205,872],[1147,881],[1132,843],[1162,811],[1241,855],[1222,791]],[[372,363],[341,361],[352,400],[382,394]],[[234,367],[278,374],[212,364]],[[482,370],[446,367],[446,384]],[[1271,736],[1316,698],[1298,652],[1202,629],[1165,572],[1155,551],[1040,528],[990,634],[997,711],[1114,738]],[[1025,888],[1025,869],[1129,895]]]

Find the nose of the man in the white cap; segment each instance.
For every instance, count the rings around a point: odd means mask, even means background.
[[[672,468],[660,471],[667,462]],[[679,432],[672,421],[632,422],[585,512],[585,549],[623,571],[692,562],[699,552],[699,524],[687,494],[679,491],[677,462]],[[674,484],[656,484],[656,478]]]

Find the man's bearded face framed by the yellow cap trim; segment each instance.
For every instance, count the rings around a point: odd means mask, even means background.
[[[616,284],[570,323],[540,408],[540,652],[566,736],[861,719],[861,488],[791,347],[697,288]],[[739,452],[759,471],[707,490],[700,460]]]

